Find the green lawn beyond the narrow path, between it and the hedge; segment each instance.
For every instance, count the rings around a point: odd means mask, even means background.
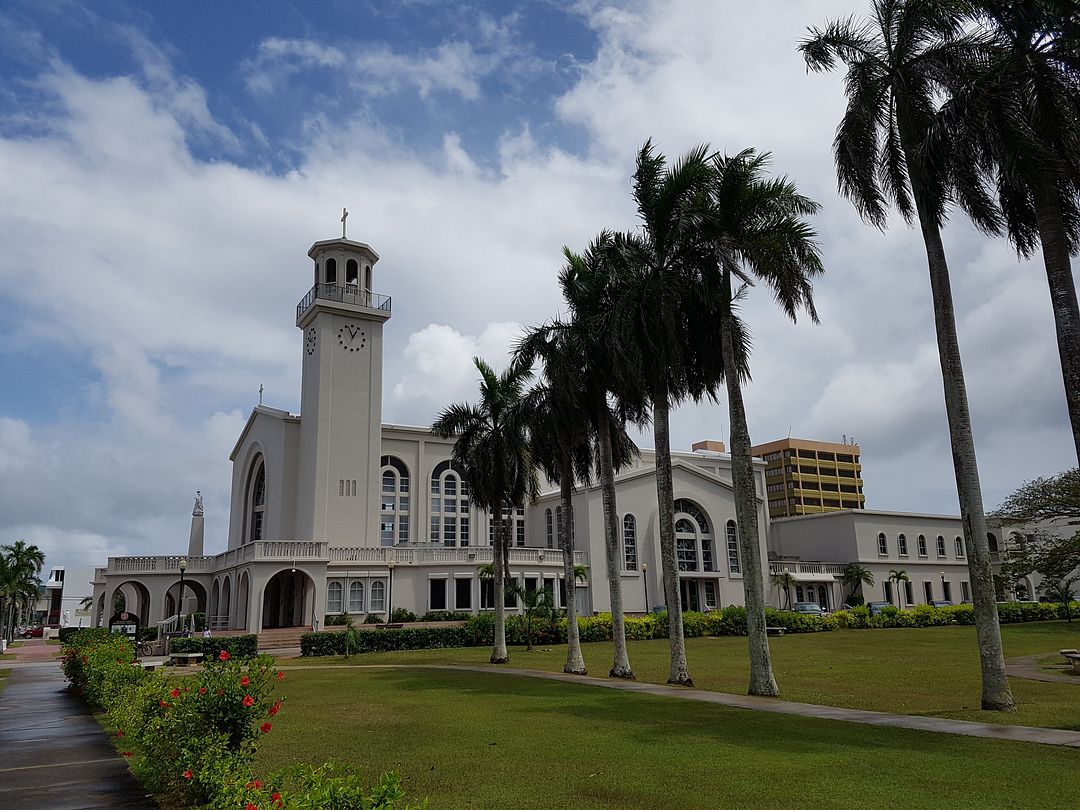
[[[1007,657],[1056,652],[1080,647],[1080,622],[1003,625]],[[583,645],[590,673],[605,676],[611,665],[610,644]],[[836,631],[770,638],[773,669],[787,700],[900,714],[1080,729],[1080,684],[1011,680],[1018,711],[978,708],[980,675],[974,627]],[[417,650],[353,657],[349,663],[486,664],[489,650],[467,648]],[[511,651],[511,666],[562,671],[566,648]],[[750,678],[743,637],[689,638],[687,658],[694,684],[735,694]],[[667,678],[666,640],[631,642],[630,659],[639,680]],[[287,665],[345,663],[340,658],[297,659]]]

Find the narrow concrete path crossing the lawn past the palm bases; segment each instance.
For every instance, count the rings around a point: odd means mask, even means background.
[[[868,726],[889,726],[892,728],[909,728],[917,731],[934,731],[942,734],[962,734],[964,737],[981,737],[989,740],[1013,740],[1016,742],[1032,742],[1043,745],[1064,745],[1080,748],[1080,731],[1066,731],[1055,728],[1036,728],[1034,726],[1004,726],[994,723],[974,723],[972,720],[949,720],[942,717],[923,717],[918,715],[889,714],[887,712],[868,712],[861,708],[841,708],[839,706],[822,706],[815,703],[795,703],[775,698],[755,698],[748,694],[728,694],[726,692],[710,692],[703,689],[685,689],[677,686],[661,684],[643,684],[637,680],[619,680],[617,678],[594,678],[588,675],[567,675],[562,672],[542,672],[539,670],[515,670],[513,667],[467,666],[458,664],[326,664],[320,666],[279,666],[280,670],[448,670],[451,672],[480,672],[487,675],[516,675],[518,677],[543,678],[544,680],[561,680],[566,684],[593,686],[602,689],[615,689],[623,692],[653,694],[661,698],[677,698],[694,700],[701,703],[714,703],[732,708],[746,708],[752,712],[771,712],[773,714],[795,715],[798,717],[819,717],[825,720],[842,720],[845,723],[862,723]]]

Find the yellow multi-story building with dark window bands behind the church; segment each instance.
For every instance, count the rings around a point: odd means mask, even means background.
[[[856,444],[781,438],[751,453],[766,462],[771,519],[866,508]]]

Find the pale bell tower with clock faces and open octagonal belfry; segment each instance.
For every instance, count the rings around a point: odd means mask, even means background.
[[[303,375],[295,537],[378,545],[382,324],[390,298],[372,289],[379,255],[370,245],[342,237],[315,242],[308,256],[314,284],[296,306]]]

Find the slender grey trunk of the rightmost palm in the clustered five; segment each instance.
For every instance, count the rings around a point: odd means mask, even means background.
[[[728,389],[728,413],[731,421],[731,484],[735,496],[735,523],[739,527],[739,553],[742,555],[743,599],[746,606],[746,638],[750,644],[750,694],[775,697],[780,687],[772,674],[769,635],[765,621],[765,577],[761,572],[761,546],[757,534],[757,487],[750,454],[750,431],[743,407],[742,388],[735,370],[735,353],[730,316],[730,279],[725,291],[727,307],[721,324],[724,377]]]

